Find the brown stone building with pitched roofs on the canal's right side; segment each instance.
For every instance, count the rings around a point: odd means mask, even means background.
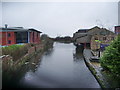
[[[115,33],[112,31],[95,26],[91,29],[86,29],[85,32],[78,31],[74,33],[73,40],[75,45],[84,44],[84,47],[89,45],[92,50],[96,50],[100,47],[104,49],[114,40],[115,36]]]

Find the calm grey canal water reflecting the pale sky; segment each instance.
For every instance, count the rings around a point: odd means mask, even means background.
[[[24,71],[17,84],[26,88],[100,88],[87,68],[82,49],[73,44],[54,43],[42,58]],[[27,63],[26,63],[27,65]],[[29,66],[29,67],[31,67]],[[25,69],[25,68],[23,68]],[[18,72],[19,75],[22,72]]]

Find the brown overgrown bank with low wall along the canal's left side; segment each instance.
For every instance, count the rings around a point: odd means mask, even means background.
[[[2,87],[19,87],[16,85],[19,77],[21,77],[29,68],[36,68],[38,66],[38,62],[41,60],[40,58],[42,58],[44,52],[49,50],[49,48],[52,48],[53,41],[48,45],[47,44],[48,42],[46,41],[41,44],[27,44],[27,53],[18,58],[18,60],[13,60],[13,57],[10,55],[1,56]]]

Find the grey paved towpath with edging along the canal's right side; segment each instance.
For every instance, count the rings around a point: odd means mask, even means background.
[[[102,75],[102,67],[100,63],[92,63],[89,59],[94,56],[90,49],[84,49],[83,51],[84,60],[89,70],[95,76],[96,80],[99,82],[102,88],[110,88],[110,85],[106,81],[106,78]]]

